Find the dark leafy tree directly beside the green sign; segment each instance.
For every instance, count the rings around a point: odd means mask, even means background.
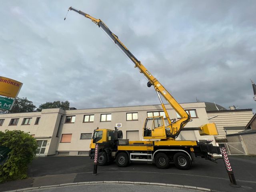
[[[33,112],[36,106],[34,106],[33,102],[28,100],[27,98],[16,98],[11,113],[22,113],[22,112]]]

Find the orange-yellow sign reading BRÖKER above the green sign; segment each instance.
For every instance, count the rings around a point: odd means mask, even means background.
[[[16,98],[21,87],[21,82],[0,76],[0,95]]]

